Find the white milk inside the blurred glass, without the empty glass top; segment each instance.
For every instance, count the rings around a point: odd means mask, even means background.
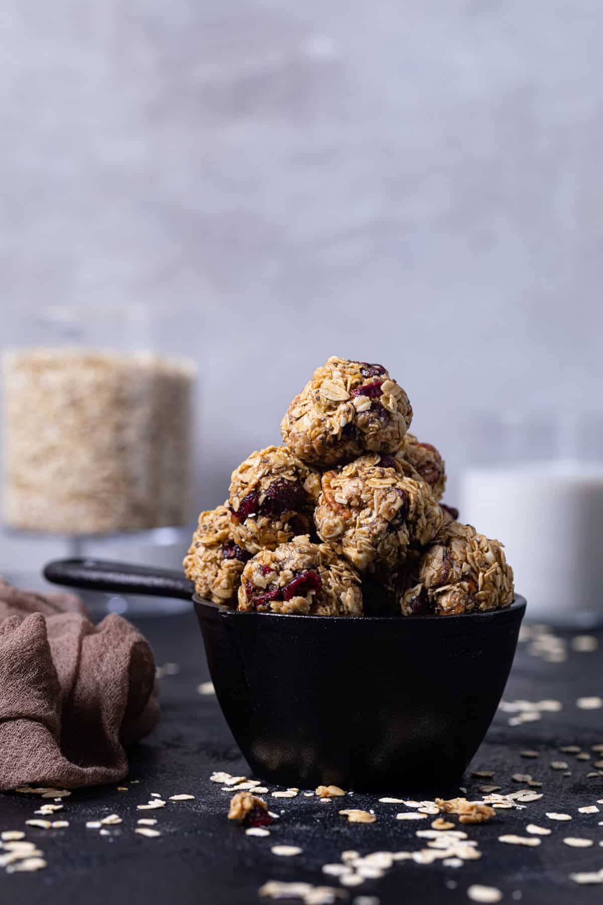
[[[529,619],[603,621],[603,466],[472,467],[463,474],[460,520],[504,543]]]

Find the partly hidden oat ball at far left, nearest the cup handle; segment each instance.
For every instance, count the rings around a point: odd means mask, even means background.
[[[197,595],[214,604],[236,606],[240,573],[251,554],[232,537],[228,506],[202,512],[184,557],[184,574],[194,582]]]

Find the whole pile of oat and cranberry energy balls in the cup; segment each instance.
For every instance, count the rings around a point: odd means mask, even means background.
[[[411,419],[382,365],[329,358],[289,405],[285,445],[253,452],[224,505],[201,513],[184,558],[197,595],[340,616],[510,605],[502,545],[440,503],[444,462],[407,433]]]

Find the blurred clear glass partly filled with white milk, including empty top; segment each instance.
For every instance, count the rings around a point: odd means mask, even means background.
[[[603,413],[484,415],[469,435],[460,520],[504,543],[528,618],[603,624]]]

